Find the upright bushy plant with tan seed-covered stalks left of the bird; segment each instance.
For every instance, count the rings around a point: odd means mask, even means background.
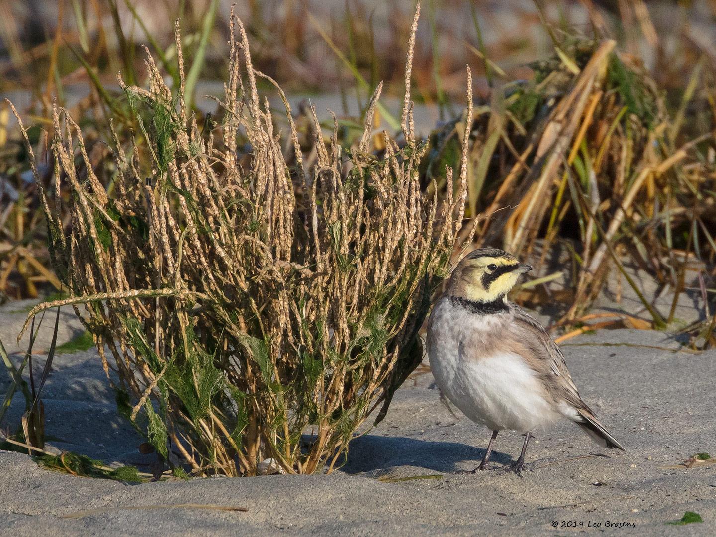
[[[265,460],[286,473],[334,468],[357,427],[380,405],[377,419],[384,415],[422,359],[417,331],[463,219],[468,137],[457,194],[441,202],[423,195],[425,144],[415,139],[410,103],[416,26],[417,14],[405,145],[384,134],[381,158],[369,153],[379,86],[357,150],[343,155],[335,130],[327,145],[317,135],[311,169],[286,101],[289,167],[256,91],[265,75],[253,69],[233,14],[221,125],[200,130],[187,110],[177,29],[178,95],[151,57],[149,90],[120,81],[141,136],[128,153],[115,137],[108,190],[80,127],[54,110],[53,190],[62,180],[72,195],[64,206],[42,193],[42,203],[54,266],[72,296],[31,316],[74,307],[120,410],[175,473],[253,475]],[[468,117],[471,102],[468,95]],[[237,158],[240,132],[248,163]]]

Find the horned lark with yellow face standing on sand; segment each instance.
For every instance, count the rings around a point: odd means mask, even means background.
[[[505,298],[531,270],[507,252],[479,248],[460,261],[430,314],[427,352],[437,386],[470,420],[492,430],[475,470],[487,465],[498,432],[509,429],[526,433],[511,467],[519,474],[532,431],[561,418],[605,448],[624,450],[579,397],[543,326]]]

